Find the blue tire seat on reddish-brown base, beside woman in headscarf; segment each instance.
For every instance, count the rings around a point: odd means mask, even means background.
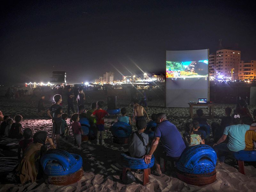
[[[41,157],[41,165],[49,184],[70,185],[84,176],[82,157],[62,149],[48,150]]]

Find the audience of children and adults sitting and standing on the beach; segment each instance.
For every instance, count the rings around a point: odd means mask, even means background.
[[[68,113],[63,113],[63,107],[60,105],[62,97],[60,94],[54,95],[55,103],[46,111],[47,115],[52,120],[52,137],[47,137],[47,132],[39,131],[34,135],[29,128],[23,129],[22,116],[16,115],[14,121],[9,116],[3,116],[0,111],[0,120],[3,122],[0,125],[0,135],[6,137],[19,139],[18,160],[19,164],[14,172],[7,175],[7,180],[10,182],[26,183],[28,181],[35,181],[42,177],[43,171],[40,167],[40,157],[47,151],[46,143],[50,144],[50,148],[60,147],[60,137],[67,137],[72,130],[74,136],[74,148],[81,150],[81,142],[83,129],[80,124],[80,119],[87,118],[90,123],[90,129],[93,130],[92,135],[88,137],[96,137],[96,145],[104,145],[104,119],[109,116],[105,111],[104,102],[98,101],[91,104],[91,109],[85,110],[84,100],[85,95],[83,90],[79,89],[77,95],[78,112],[75,113],[73,102],[70,99],[74,97],[71,89],[68,88]],[[43,110],[44,97],[41,97],[38,103],[39,108]],[[212,123],[211,126],[204,118],[203,110],[196,111],[197,117],[192,121],[184,124],[183,137],[178,131],[177,127],[168,121],[164,113],[152,114],[151,121],[157,125],[151,128],[154,131],[153,139],[149,139],[148,134],[145,133],[147,127],[147,120],[149,116],[143,106],[139,104],[138,100],[133,101],[133,116],[127,116],[127,109],[122,108],[121,114],[117,117],[117,122],[125,122],[132,126],[132,122],[136,123],[137,131],[132,132],[128,146],[128,155],[134,158],[143,158],[145,163],[150,163],[152,155],[155,156],[155,170],[151,173],[160,176],[162,174],[160,169],[160,158],[168,159],[172,162],[178,161],[182,152],[191,146],[208,144],[207,140],[209,134],[204,134],[200,129],[202,126],[210,127],[212,130],[214,144],[211,145],[218,155],[220,164],[222,164],[228,153],[240,150],[255,150],[256,142],[256,109],[253,111],[253,116],[247,108],[245,100],[239,100],[238,106],[234,109],[227,107],[225,109],[225,117],[221,119],[220,124]],[[68,125],[67,119],[70,111],[73,115]],[[39,112],[39,111],[38,111]],[[41,111],[40,111],[41,112]],[[146,116],[146,119],[145,119]],[[206,132],[206,131],[205,131]],[[208,134],[208,136],[207,136]],[[207,136],[207,137],[206,137]],[[56,147],[54,140],[56,137]],[[101,142],[100,142],[101,139]],[[21,156],[22,152],[22,156]],[[141,170],[137,170],[141,173]]]

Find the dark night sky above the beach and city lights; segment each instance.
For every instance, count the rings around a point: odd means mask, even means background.
[[[215,52],[219,39],[256,60],[252,4],[188,2],[1,1],[0,84],[48,82],[54,70],[67,71],[68,83],[106,71],[121,79],[115,68],[142,73],[135,64],[163,73],[165,50]]]

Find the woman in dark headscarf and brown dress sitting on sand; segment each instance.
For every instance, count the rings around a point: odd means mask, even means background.
[[[52,139],[47,137],[47,132],[39,131],[33,136],[31,143],[25,150],[23,158],[17,168],[20,182],[35,181],[40,170],[40,157],[47,151],[45,143],[50,143],[51,148],[55,148]]]

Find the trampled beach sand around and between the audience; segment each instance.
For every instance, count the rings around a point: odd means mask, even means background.
[[[132,116],[133,109],[128,107],[130,103],[129,92],[125,93],[122,90],[108,91],[108,95],[117,95],[118,107],[126,107],[128,115]],[[128,94],[128,96],[126,96]],[[150,93],[153,96],[153,101],[148,102],[149,115],[152,113],[164,112],[168,120],[177,126],[179,131],[183,133],[183,124],[189,120],[188,108],[164,108],[164,98],[159,91]],[[92,101],[104,100],[106,102],[106,95],[103,91],[85,92],[86,107],[89,108]],[[0,110],[4,115],[14,117],[16,114],[23,116],[24,120],[21,122],[24,128],[30,127],[35,133],[38,130],[45,130],[51,136],[52,123],[49,118],[39,117],[36,111],[36,99],[31,99],[31,96],[25,96],[18,100],[6,101],[0,99]],[[51,97],[46,101],[45,105],[51,105]],[[229,106],[235,108],[235,105],[216,104],[215,118],[209,120],[209,123],[220,122],[221,116],[224,115],[224,109]],[[64,112],[67,108],[65,98],[63,98]],[[251,111],[256,106],[249,106]],[[196,109],[194,109],[196,110]],[[207,112],[207,109],[203,109]],[[194,111],[195,113],[195,111]],[[256,191],[256,166],[255,164],[245,164],[246,175],[238,172],[237,165],[233,164],[231,160],[227,160],[225,164],[218,164],[216,167],[217,180],[204,187],[196,187],[188,185],[183,181],[172,176],[172,173],[166,171],[160,177],[149,176],[149,183],[143,186],[141,180],[143,174],[135,173],[138,180],[130,185],[124,185],[120,181],[122,166],[120,162],[120,154],[128,150],[128,144],[118,145],[112,142],[111,132],[108,131],[110,122],[116,120],[116,116],[111,116],[106,119],[105,125],[105,146],[96,146],[96,140],[83,142],[83,150],[73,149],[72,134],[68,140],[61,139],[60,146],[62,149],[71,153],[77,153],[83,158],[84,177],[77,183],[69,186],[55,186],[45,184],[44,180],[39,180],[28,184],[1,184],[0,191]],[[133,130],[135,126],[133,125]],[[17,149],[10,151],[0,149],[0,169],[1,171],[11,171],[17,162]]]

